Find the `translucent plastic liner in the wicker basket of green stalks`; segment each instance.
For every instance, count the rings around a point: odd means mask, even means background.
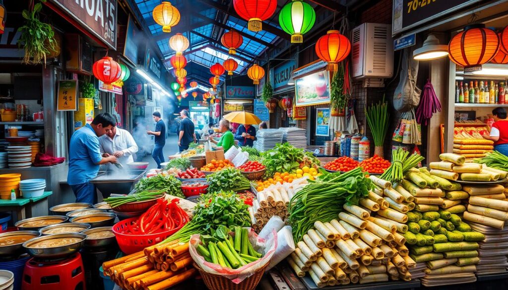
[[[230,235],[234,236],[235,234],[231,232]],[[252,229],[249,229],[249,241],[253,245],[255,244],[254,249],[257,252],[262,253],[263,256],[258,261],[249,263],[238,269],[223,268],[220,265],[206,262],[196,250],[196,247],[201,243],[200,235],[193,235],[190,237],[189,252],[194,262],[205,272],[224,276],[230,279],[231,282],[239,284],[246,278],[252,276],[256,270],[263,268],[265,265],[270,263],[270,260],[275,253],[275,249],[277,248],[277,232],[272,231],[272,233],[268,236],[268,240],[264,240],[259,238]]]

